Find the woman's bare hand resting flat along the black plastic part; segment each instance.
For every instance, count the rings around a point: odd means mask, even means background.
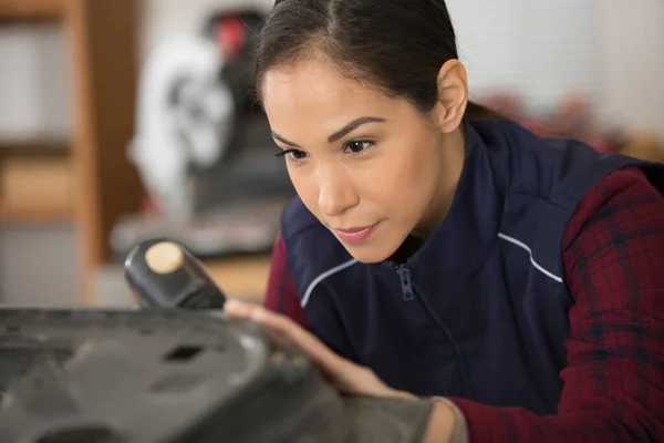
[[[255,321],[277,334],[284,334],[313,360],[331,383],[343,393],[367,396],[416,399],[407,392],[387,387],[369,368],[361,367],[332,352],[314,334],[286,316],[261,306],[227,300],[224,312],[228,318]]]

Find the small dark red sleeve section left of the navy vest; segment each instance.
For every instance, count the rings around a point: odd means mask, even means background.
[[[288,268],[288,257],[281,235],[277,237],[274,243],[268,278],[268,291],[263,305],[266,308],[290,317],[303,328],[309,329],[307,315],[300,306],[293,277]]]

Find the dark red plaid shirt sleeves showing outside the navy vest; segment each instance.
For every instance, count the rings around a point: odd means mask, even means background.
[[[562,264],[575,303],[558,414],[450,399],[470,441],[664,441],[664,198],[641,171],[614,172],[588,193]],[[281,238],[266,306],[307,327]]]

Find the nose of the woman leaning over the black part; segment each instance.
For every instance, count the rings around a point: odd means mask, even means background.
[[[342,171],[325,168],[319,174],[319,208],[328,217],[343,214],[360,198],[352,181]]]

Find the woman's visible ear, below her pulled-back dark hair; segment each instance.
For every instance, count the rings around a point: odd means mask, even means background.
[[[458,60],[447,61],[436,79],[438,101],[434,106],[434,122],[443,133],[456,131],[468,105],[468,74]]]

